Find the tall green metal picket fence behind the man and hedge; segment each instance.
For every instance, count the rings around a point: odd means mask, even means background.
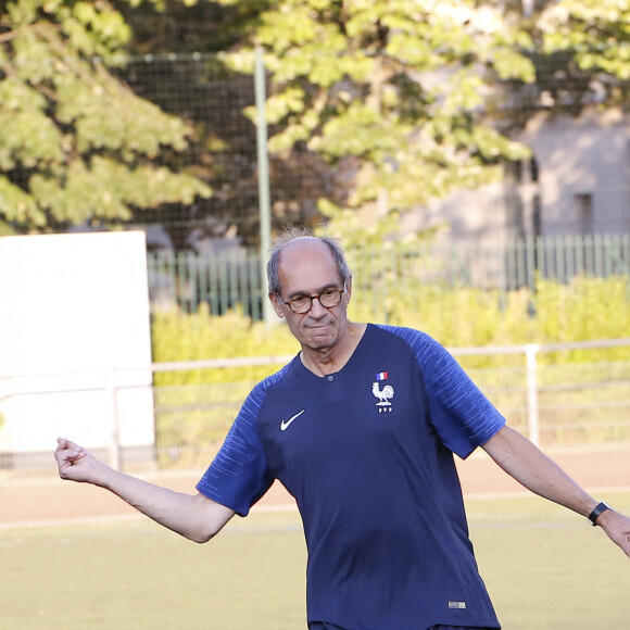
[[[534,292],[538,279],[568,282],[577,276],[630,277],[628,234],[525,238],[494,244],[403,242],[349,249],[346,253],[354,287],[366,304],[391,287],[404,287],[407,295],[427,284],[502,291],[528,287]],[[193,313],[206,304],[215,315],[238,307],[260,319],[267,295],[261,268],[257,252],[238,247],[204,254],[150,252],[152,307]]]

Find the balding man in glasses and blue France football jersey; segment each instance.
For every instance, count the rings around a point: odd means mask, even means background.
[[[453,461],[477,446],[532,492],[590,517],[630,556],[630,519],[508,428],[439,343],[348,319],[352,278],[335,240],[280,242],[268,279],[302,350],[252,390],[198,494],[114,471],[64,439],[61,477],[106,488],[198,542],[247,515],[279,479],[304,524],[316,630],[500,627]]]

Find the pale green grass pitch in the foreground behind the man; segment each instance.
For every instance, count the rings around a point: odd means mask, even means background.
[[[606,494],[630,513],[630,493]],[[537,497],[468,501],[505,630],[630,628],[630,560]],[[0,531],[2,630],[305,629],[297,513],[254,513],[197,545],[146,519]],[[395,630],[395,629],[382,629]]]

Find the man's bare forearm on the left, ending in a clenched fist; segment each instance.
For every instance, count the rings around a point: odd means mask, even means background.
[[[114,470],[74,442],[59,438],[54,457],[62,479],[105,488],[160,525],[192,540],[207,542],[235,512],[203,494],[174,492]]]

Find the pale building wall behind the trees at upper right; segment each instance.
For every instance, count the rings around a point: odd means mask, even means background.
[[[534,236],[533,196],[540,196],[541,235],[630,232],[630,115],[587,111],[579,118],[540,114],[520,140],[532,149],[539,181],[518,186],[522,226],[506,204],[508,186],[492,184],[436,200],[403,217],[402,230],[449,225],[449,238],[499,243],[522,227]],[[592,222],[584,223],[576,196],[591,196]]]

